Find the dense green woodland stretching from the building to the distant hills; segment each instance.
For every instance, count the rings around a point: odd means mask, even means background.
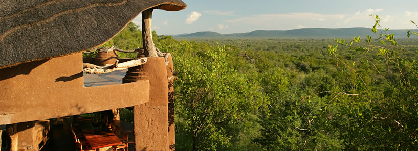
[[[178,72],[176,149],[416,150],[418,39],[383,30],[378,40],[379,32],[351,46],[353,38],[175,40],[154,32]],[[128,24],[111,44],[141,47],[139,26]],[[122,119],[131,120],[129,111]]]

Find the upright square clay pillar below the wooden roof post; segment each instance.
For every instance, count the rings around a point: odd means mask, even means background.
[[[136,150],[169,150],[168,79],[163,57],[148,58],[144,65],[129,68],[124,83],[150,81],[149,102],[134,106]]]

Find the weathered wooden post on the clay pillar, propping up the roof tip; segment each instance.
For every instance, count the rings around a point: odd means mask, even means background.
[[[142,44],[144,46],[145,57],[158,57],[154,42],[152,41],[152,11],[147,9],[142,12]]]

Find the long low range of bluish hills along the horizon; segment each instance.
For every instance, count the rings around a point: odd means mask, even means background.
[[[406,38],[407,30],[389,30],[395,37]],[[175,35],[174,37],[376,37],[369,28],[303,28],[295,30],[256,30],[249,33],[219,34],[216,32],[197,32],[191,34]]]

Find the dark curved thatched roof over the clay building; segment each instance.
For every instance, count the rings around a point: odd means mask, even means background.
[[[142,11],[186,8],[181,0],[5,0],[0,5],[0,68],[91,49]]]

